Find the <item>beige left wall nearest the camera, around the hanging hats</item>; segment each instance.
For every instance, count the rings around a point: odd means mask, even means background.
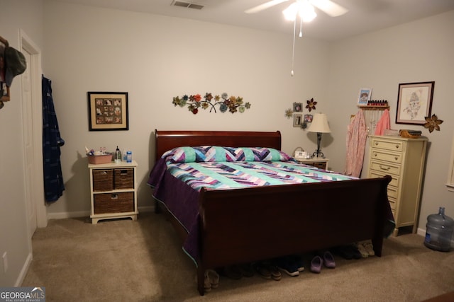
[[[43,4],[40,0],[0,1],[0,35],[19,49],[20,29],[43,47]],[[6,252],[8,269],[0,258],[0,286],[19,286],[32,257],[26,222],[23,170],[21,78],[10,89],[11,100],[0,110],[0,257]]]

